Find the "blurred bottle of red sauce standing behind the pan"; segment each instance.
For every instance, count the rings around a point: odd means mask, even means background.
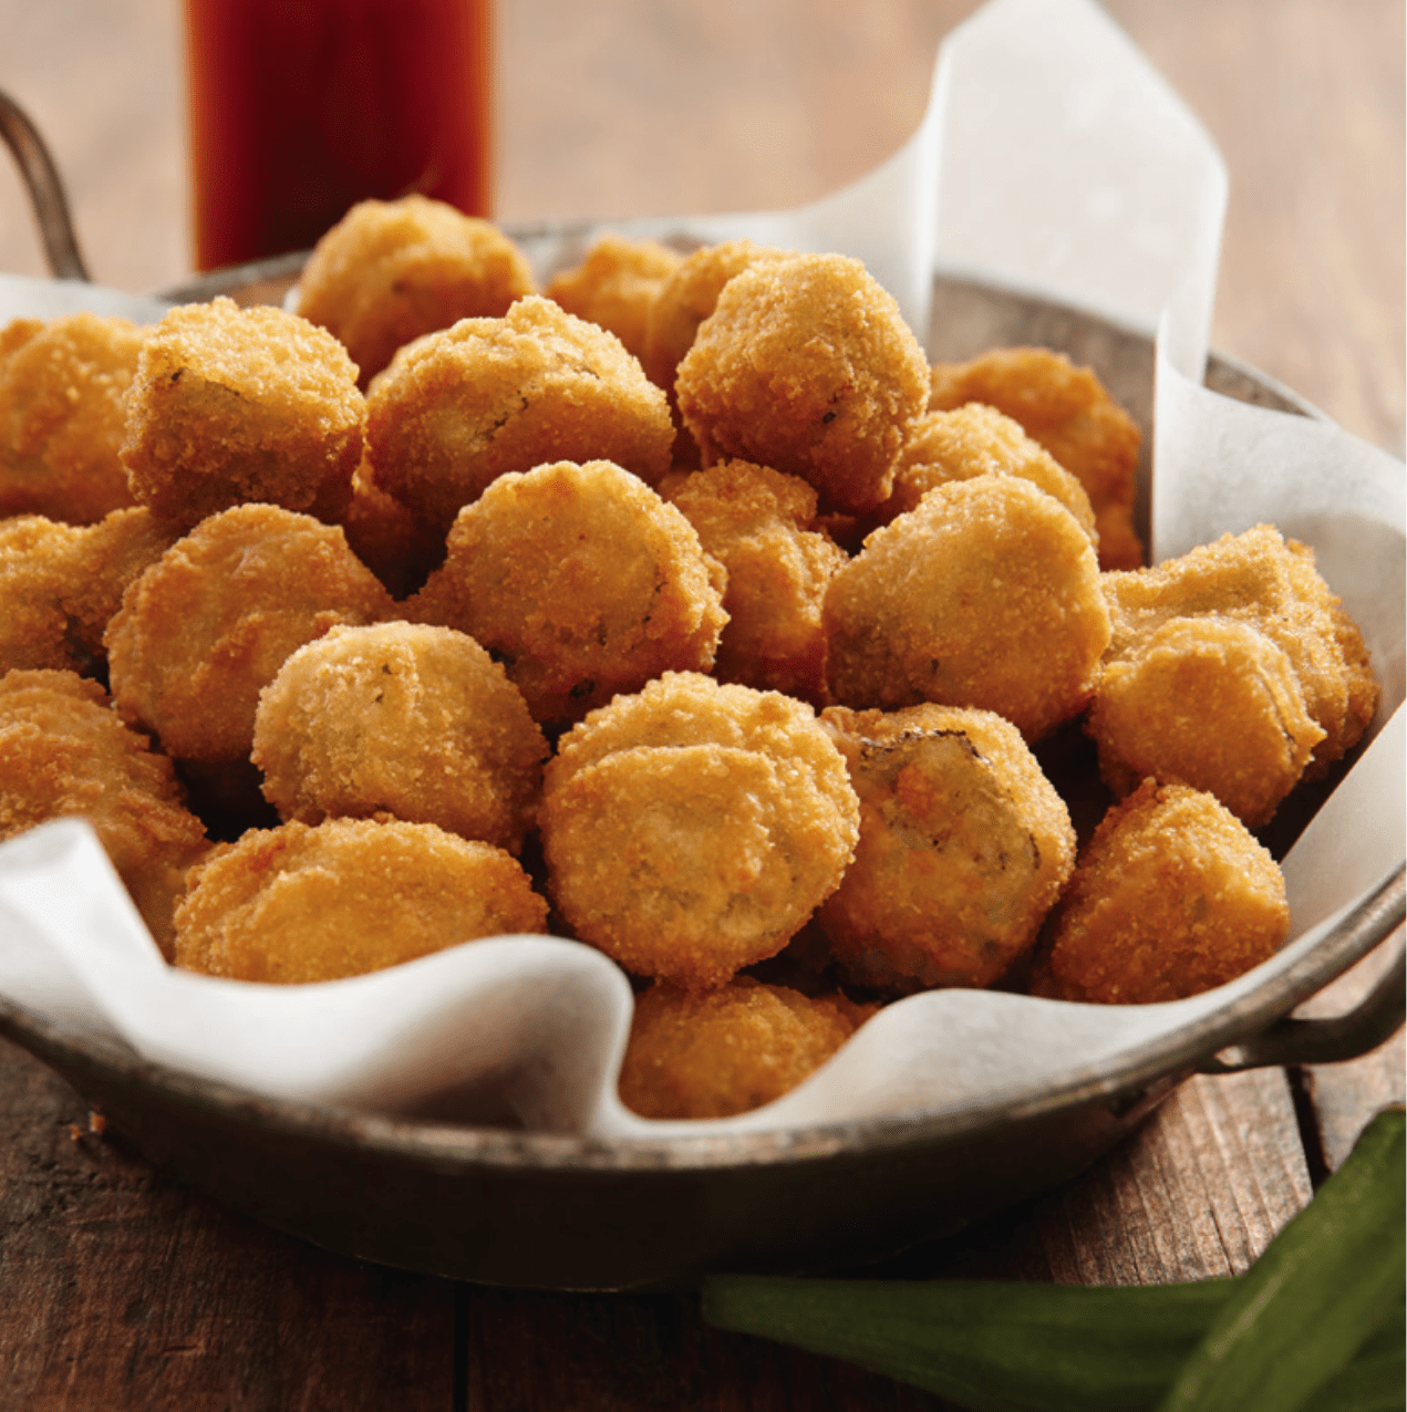
[[[185,0],[201,270],[304,250],[367,196],[486,216],[490,0]]]

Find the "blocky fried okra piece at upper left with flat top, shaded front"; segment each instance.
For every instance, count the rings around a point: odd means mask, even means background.
[[[366,404],[331,333],[233,299],[172,309],[141,346],[121,463],[133,494],[189,528],[263,501],[336,520]]]

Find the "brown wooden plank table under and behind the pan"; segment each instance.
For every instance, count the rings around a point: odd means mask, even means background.
[[[0,86],[68,175],[97,278],[188,268],[168,0],[0,0]],[[966,0],[514,0],[500,213],[808,201],[917,121]],[[1401,455],[1403,0],[1108,6],[1232,171],[1213,339]],[[4,164],[0,162],[0,167]],[[42,273],[8,171],[0,268]],[[1397,939],[1399,945],[1401,938]],[[1314,1003],[1346,1008],[1369,959]],[[1154,1282],[1245,1269],[1404,1097],[1407,1031],[1332,1067],[1194,1079],[1076,1182],[910,1261],[951,1276]],[[0,1043],[0,1409],[937,1408],[706,1329],[688,1295],[511,1293],[340,1260],[150,1171]]]

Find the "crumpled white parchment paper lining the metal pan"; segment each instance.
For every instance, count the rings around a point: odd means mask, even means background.
[[[496,938],[304,987],[194,976],[164,964],[88,826],[59,820],[0,846],[0,994],[66,1028],[119,1038],[151,1060],[267,1097],[651,1138],[1034,1096],[1229,1008],[1311,950],[1407,854],[1407,717],[1397,710],[1407,693],[1407,479],[1394,457],[1328,422],[1199,385],[1225,201],[1211,141],[1098,7],[996,0],[944,45],[920,130],[853,186],[798,212],[609,229],[846,251],[866,261],[918,329],[927,328],[935,270],[1160,329],[1156,555],[1261,521],[1280,525],[1315,545],[1383,682],[1372,744],[1286,858],[1291,940],[1264,966],[1165,1005],[966,990],[913,995],[766,1108],[651,1123],[616,1099],[631,991],[590,947]],[[592,234],[548,232],[533,253],[551,268],[576,258]],[[138,319],[160,313],[154,301],[112,291],[0,277],[0,321],[76,305]]]

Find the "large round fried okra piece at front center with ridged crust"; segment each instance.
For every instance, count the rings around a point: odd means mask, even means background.
[[[538,813],[575,935],[687,990],[780,952],[839,882],[857,819],[809,707],[694,672],[564,736]]]

